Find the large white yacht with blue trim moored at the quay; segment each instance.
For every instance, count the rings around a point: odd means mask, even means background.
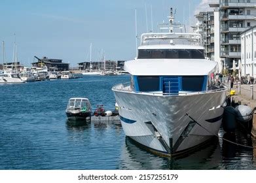
[[[204,57],[201,36],[145,33],[137,51],[124,65],[131,81],[112,88],[126,136],[174,156],[217,135],[227,88],[214,86],[217,62]]]

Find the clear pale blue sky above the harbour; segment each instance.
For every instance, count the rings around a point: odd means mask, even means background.
[[[136,8],[140,35],[147,31],[145,5],[149,29],[152,5],[156,31],[158,23],[167,21],[170,7],[177,8],[177,21],[186,20],[189,25],[189,1],[193,16],[200,0],[1,0],[0,41],[5,41],[6,59],[12,61],[15,33],[18,61],[24,65],[29,65],[33,56],[46,56],[77,66],[88,56],[90,42],[95,61],[100,58],[101,49],[106,59],[128,60],[136,56]]]

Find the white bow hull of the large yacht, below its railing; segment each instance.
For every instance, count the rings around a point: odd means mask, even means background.
[[[113,92],[124,133],[153,152],[185,152],[217,135],[221,126],[226,90],[189,95]]]

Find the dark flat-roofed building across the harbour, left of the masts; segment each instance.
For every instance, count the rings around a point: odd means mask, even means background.
[[[69,71],[69,63],[62,63],[62,59],[51,59],[51,58],[35,58],[38,60],[37,62],[32,63],[33,67],[44,67],[46,66],[48,69],[55,67],[57,71]]]

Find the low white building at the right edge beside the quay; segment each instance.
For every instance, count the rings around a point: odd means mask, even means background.
[[[241,33],[242,76],[256,78],[256,26]]]

